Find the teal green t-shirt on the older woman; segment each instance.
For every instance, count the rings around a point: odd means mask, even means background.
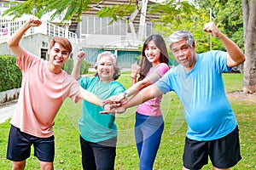
[[[98,77],[83,77],[79,80],[82,88],[96,94],[100,99],[108,99],[120,94],[125,88],[119,82],[101,82]],[[118,135],[113,114],[100,114],[102,107],[90,104],[83,99],[82,114],[79,118],[79,130],[83,139],[100,142]]]

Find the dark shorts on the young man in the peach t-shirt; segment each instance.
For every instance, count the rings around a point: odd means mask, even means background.
[[[7,159],[11,161],[24,161],[31,153],[31,145],[34,146],[34,156],[40,161],[54,161],[55,137],[38,138],[27,133],[20,132],[20,128],[11,125],[9,131],[9,143]]]

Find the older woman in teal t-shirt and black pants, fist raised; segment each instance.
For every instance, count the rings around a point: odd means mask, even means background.
[[[80,77],[79,72],[84,57],[84,52],[78,54],[72,73],[76,79]],[[82,77],[79,82],[82,88],[104,100],[125,91],[125,88],[115,81],[118,77],[117,57],[110,52],[103,52],[96,59],[96,75]],[[118,135],[115,116],[102,115],[100,111],[103,111],[102,107],[83,100],[79,131],[84,169],[114,169]]]

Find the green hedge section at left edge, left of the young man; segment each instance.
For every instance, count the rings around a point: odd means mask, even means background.
[[[0,92],[20,88],[21,79],[16,57],[0,55]]]

